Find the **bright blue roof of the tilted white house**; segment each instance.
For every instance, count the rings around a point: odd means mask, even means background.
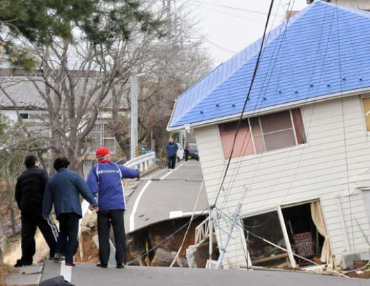
[[[178,97],[169,128],[242,112],[261,39]],[[245,111],[370,86],[370,13],[315,1],[266,35]]]

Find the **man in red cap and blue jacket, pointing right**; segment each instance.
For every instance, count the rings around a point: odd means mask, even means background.
[[[109,234],[111,226],[116,243],[117,268],[124,268],[126,251],[126,237],[123,214],[126,209],[125,190],[122,179],[139,178],[140,171],[117,165],[109,160],[109,150],[101,147],[96,150],[98,164],[91,168],[87,177],[87,184],[98,197],[98,237],[99,237],[99,259],[98,267],[107,268],[110,245]]]

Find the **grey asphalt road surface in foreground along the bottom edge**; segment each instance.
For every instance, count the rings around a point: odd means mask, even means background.
[[[224,270],[168,267],[126,267],[100,269],[93,264],[77,264],[70,268],[71,283],[77,286],[132,285],[132,286],[358,286],[370,285],[370,280],[340,278],[312,273],[267,270]],[[47,261],[41,280],[59,276],[61,266]]]

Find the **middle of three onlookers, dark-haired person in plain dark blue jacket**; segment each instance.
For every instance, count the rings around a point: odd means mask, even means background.
[[[56,244],[54,260],[59,262],[65,256],[66,266],[75,266],[73,256],[78,248],[79,219],[82,218],[79,194],[98,211],[98,202],[91,194],[84,179],[72,170],[68,170],[70,161],[67,158],[56,158],[54,169],[56,173],[47,183],[44,202],[43,217],[49,218],[54,204],[56,219],[59,221],[59,237]]]

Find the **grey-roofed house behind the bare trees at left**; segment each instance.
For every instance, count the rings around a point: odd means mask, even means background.
[[[25,74],[22,71],[13,73],[5,71],[3,73],[6,75],[1,78],[0,114],[13,122],[20,116],[22,120],[29,123],[29,128],[32,128],[33,132],[39,132],[43,136],[51,136],[47,123],[49,116],[47,104],[40,96],[38,89],[30,81],[30,74]],[[36,72],[31,76],[33,80],[37,80],[40,74]],[[36,82],[40,90],[45,90],[43,79]],[[95,158],[95,149],[102,145],[107,146],[112,154],[115,154],[118,150],[113,132],[108,127],[110,119],[111,110],[109,109],[109,100],[107,100],[105,108],[102,108],[95,126],[88,136],[91,158]]]

